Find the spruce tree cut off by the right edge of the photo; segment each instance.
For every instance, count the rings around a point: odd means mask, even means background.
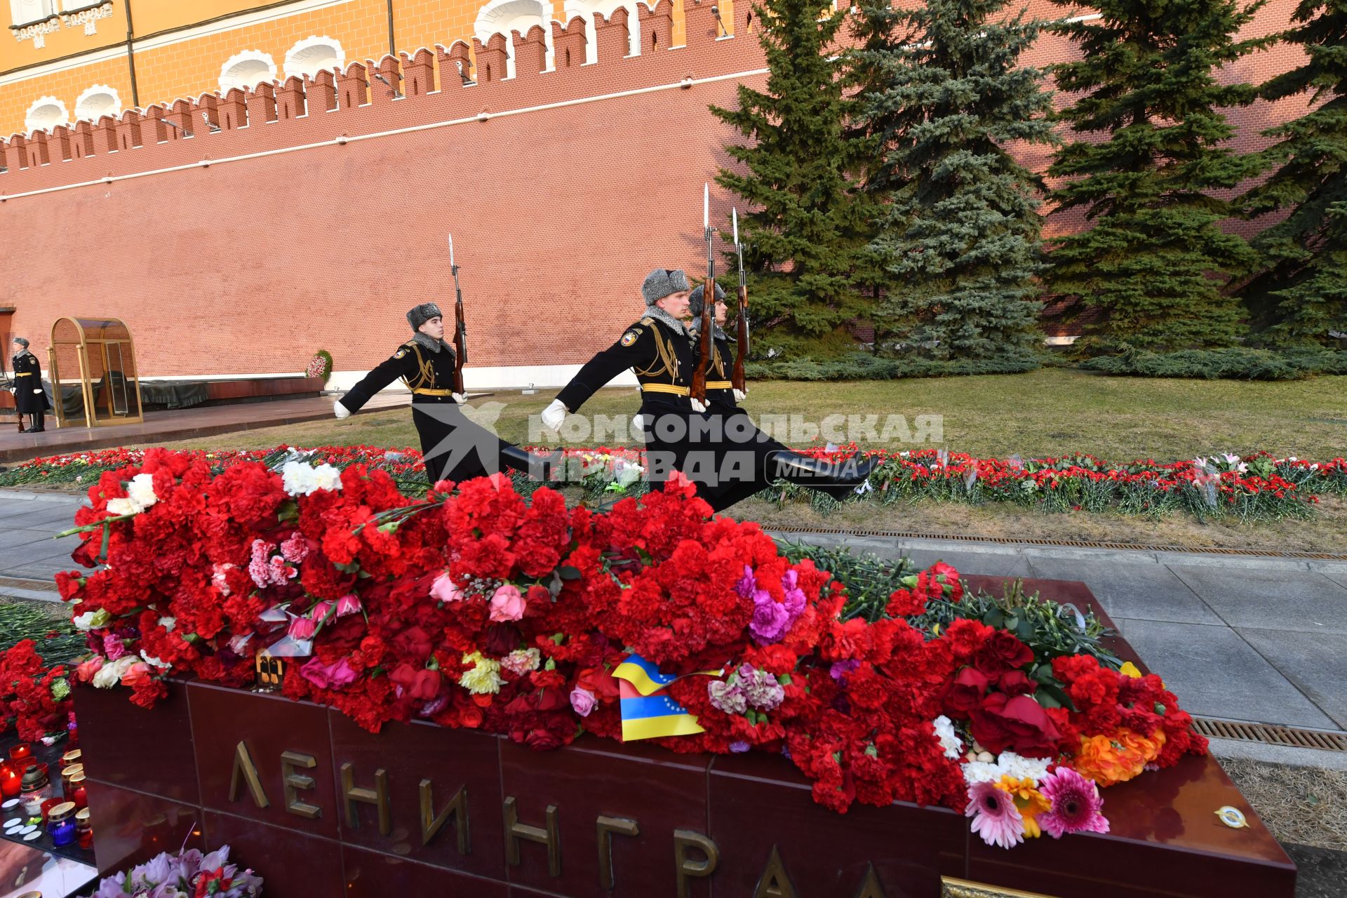
[[[1273,324],[1263,342],[1331,345],[1347,333],[1347,0],[1303,0],[1292,23],[1281,39],[1299,44],[1305,63],[1259,93],[1312,108],[1263,132],[1280,139],[1265,151],[1280,168],[1246,195],[1247,207],[1289,214],[1254,237],[1262,272],[1245,296],[1255,320]]]

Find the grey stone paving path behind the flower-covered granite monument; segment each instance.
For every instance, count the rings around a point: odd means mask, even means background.
[[[79,498],[0,490],[0,578],[50,583],[73,567]],[[1347,730],[1347,561],[954,540],[788,534],[920,565],[1083,580],[1142,660],[1199,715]],[[0,594],[55,600],[54,586]]]

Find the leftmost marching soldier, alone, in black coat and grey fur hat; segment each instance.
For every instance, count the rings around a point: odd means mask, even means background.
[[[547,479],[555,458],[544,459],[506,443],[459,408],[466,401],[454,392],[457,355],[445,342],[445,319],[435,303],[407,312],[415,334],[333,405],[337,417],[358,412],[369,399],[401,378],[412,392],[412,423],[422,442],[426,477],[461,483],[511,467],[535,479]]]

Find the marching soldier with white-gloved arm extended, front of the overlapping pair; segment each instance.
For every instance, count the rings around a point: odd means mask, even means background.
[[[649,427],[647,479],[663,483],[672,471],[682,471],[692,447],[692,421],[700,419],[703,411],[690,397],[696,368],[696,350],[683,324],[690,289],[687,275],[680,269],[652,271],[641,284],[645,315],[581,368],[543,409],[543,424],[560,429],[567,412],[579,411],[601,386],[632,369],[641,385],[641,423],[633,419],[632,424],[638,429]]]

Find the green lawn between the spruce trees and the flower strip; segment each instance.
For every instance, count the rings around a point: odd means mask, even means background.
[[[502,403],[497,431],[528,442],[528,416],[554,396],[497,393],[475,400]],[[911,443],[974,455],[1021,456],[1091,452],[1110,460],[1176,460],[1218,451],[1328,459],[1347,452],[1347,377],[1294,382],[1243,382],[1105,377],[1045,369],[1029,374],[859,381],[841,384],[769,381],[750,385],[749,412],[902,415],[916,431],[917,415],[939,415],[939,442]],[[585,415],[629,415],[633,389],[603,389]],[[555,442],[544,439],[541,442]],[[814,440],[822,444],[824,440]],[[863,444],[880,446],[869,440]],[[277,443],[416,446],[405,408],[174,443],[195,448],[263,448]],[[902,448],[898,446],[897,448]]]

